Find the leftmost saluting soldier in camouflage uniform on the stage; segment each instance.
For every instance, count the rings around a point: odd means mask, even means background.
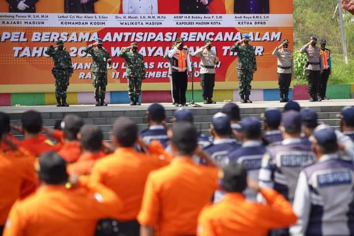
[[[58,40],[56,46],[49,46],[45,53],[53,57],[54,61],[52,74],[55,78],[57,106],[69,106],[66,103],[66,90],[69,85],[69,78],[74,73],[70,54],[64,49],[62,40]]]

